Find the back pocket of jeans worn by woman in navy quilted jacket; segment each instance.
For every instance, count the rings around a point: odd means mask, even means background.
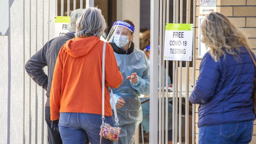
[[[229,138],[236,135],[238,126],[239,122],[221,124],[221,136]]]

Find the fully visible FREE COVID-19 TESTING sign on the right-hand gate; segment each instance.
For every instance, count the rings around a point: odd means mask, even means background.
[[[193,24],[166,24],[164,60],[192,61]]]

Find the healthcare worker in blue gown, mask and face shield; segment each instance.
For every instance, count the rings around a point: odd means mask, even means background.
[[[113,89],[121,133],[115,144],[133,144],[134,133],[142,121],[140,94],[149,94],[149,63],[142,50],[134,48],[134,24],[130,20],[116,21],[107,37],[111,44],[123,82]],[[113,105],[112,105],[113,109]],[[114,118],[113,118],[114,119]]]

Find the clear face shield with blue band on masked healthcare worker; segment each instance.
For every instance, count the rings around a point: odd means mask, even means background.
[[[107,41],[115,43],[119,48],[130,48],[134,37],[134,27],[124,21],[116,21],[109,31]]]

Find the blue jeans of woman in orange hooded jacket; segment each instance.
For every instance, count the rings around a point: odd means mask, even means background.
[[[111,117],[105,116],[104,122],[114,125]],[[59,133],[63,144],[85,144],[87,137],[91,144],[99,144],[101,124],[100,114],[60,113]],[[113,142],[102,138],[102,144]]]

